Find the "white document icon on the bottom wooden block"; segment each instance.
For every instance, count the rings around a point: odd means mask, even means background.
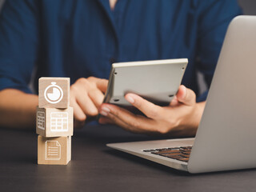
[[[45,159],[46,160],[60,160],[61,159],[61,145],[58,141],[46,141]]]

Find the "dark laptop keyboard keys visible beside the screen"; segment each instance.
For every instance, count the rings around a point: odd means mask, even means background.
[[[182,162],[188,162],[192,146],[181,146],[174,148],[162,148],[154,150],[143,150],[151,154],[157,154],[166,158],[173,158]]]

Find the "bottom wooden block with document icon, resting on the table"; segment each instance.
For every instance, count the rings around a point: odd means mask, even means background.
[[[45,138],[38,135],[38,164],[66,165],[71,160],[71,136]]]

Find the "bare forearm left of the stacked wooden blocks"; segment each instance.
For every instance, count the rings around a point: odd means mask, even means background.
[[[38,96],[20,90],[0,91],[0,126],[10,128],[30,128],[35,126]]]

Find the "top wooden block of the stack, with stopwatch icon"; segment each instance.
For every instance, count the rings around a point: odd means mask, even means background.
[[[40,108],[70,106],[70,78],[39,78],[38,92]]]

